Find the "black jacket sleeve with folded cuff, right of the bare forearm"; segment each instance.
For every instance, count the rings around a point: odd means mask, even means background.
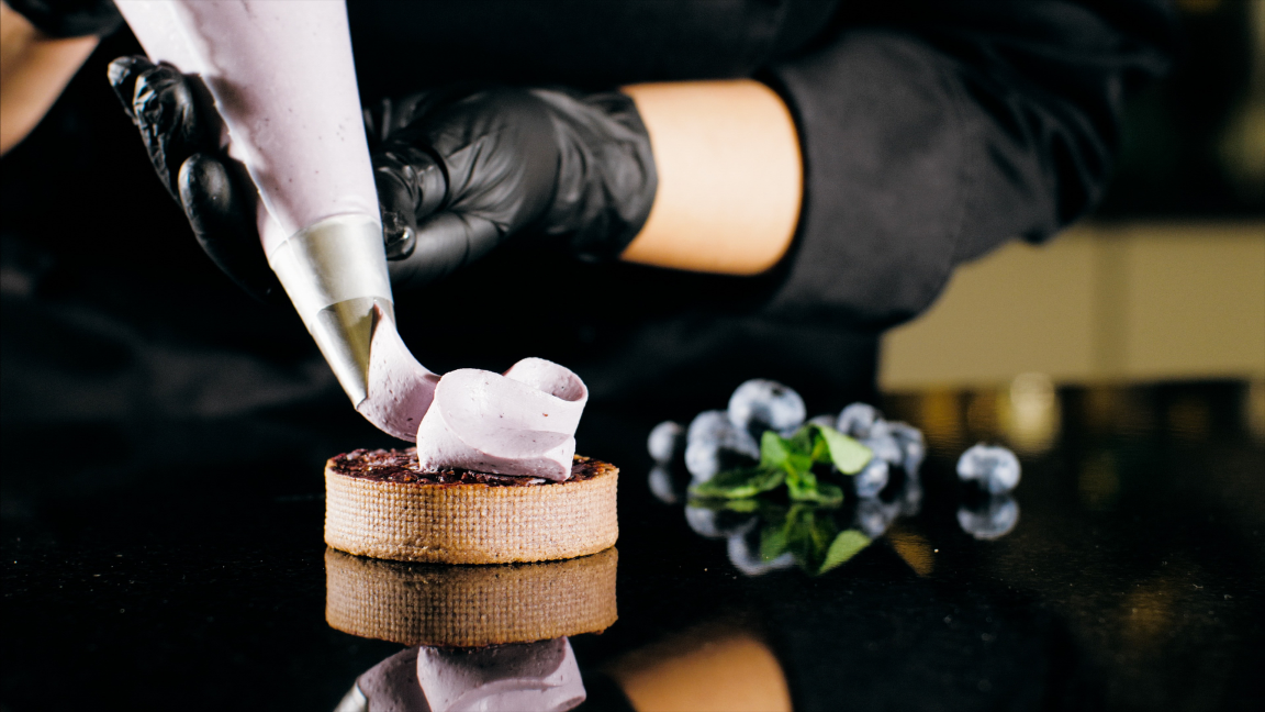
[[[1084,214],[1126,96],[1178,44],[1161,0],[869,5],[845,3],[824,42],[764,77],[805,160],[799,234],[769,305],[782,318],[910,319],[955,265]]]

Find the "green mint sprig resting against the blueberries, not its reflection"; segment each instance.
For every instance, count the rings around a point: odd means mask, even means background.
[[[691,485],[689,494],[698,498],[745,499],[772,492],[783,484],[792,502],[826,507],[844,502],[837,484],[821,481],[813,465],[831,464],[845,475],[855,475],[873,457],[869,447],[836,431],[808,423],[791,437],[765,431],[760,437],[760,464],[719,473],[715,478]]]

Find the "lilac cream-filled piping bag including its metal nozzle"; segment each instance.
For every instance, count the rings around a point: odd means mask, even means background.
[[[215,98],[268,264],[357,410],[416,440],[439,376],[396,331],[343,0],[115,4],[152,61]]]

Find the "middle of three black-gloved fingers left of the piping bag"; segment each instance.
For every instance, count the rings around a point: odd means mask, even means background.
[[[210,129],[218,122],[204,120],[190,79],[166,65],[137,76],[132,110],[158,179],[178,199],[180,167],[194,153],[219,147],[219,132]]]

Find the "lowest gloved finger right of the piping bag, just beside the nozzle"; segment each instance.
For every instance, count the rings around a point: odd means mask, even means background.
[[[439,213],[417,227],[412,253],[387,262],[391,286],[401,291],[439,281],[492,251],[501,241],[491,220]]]

